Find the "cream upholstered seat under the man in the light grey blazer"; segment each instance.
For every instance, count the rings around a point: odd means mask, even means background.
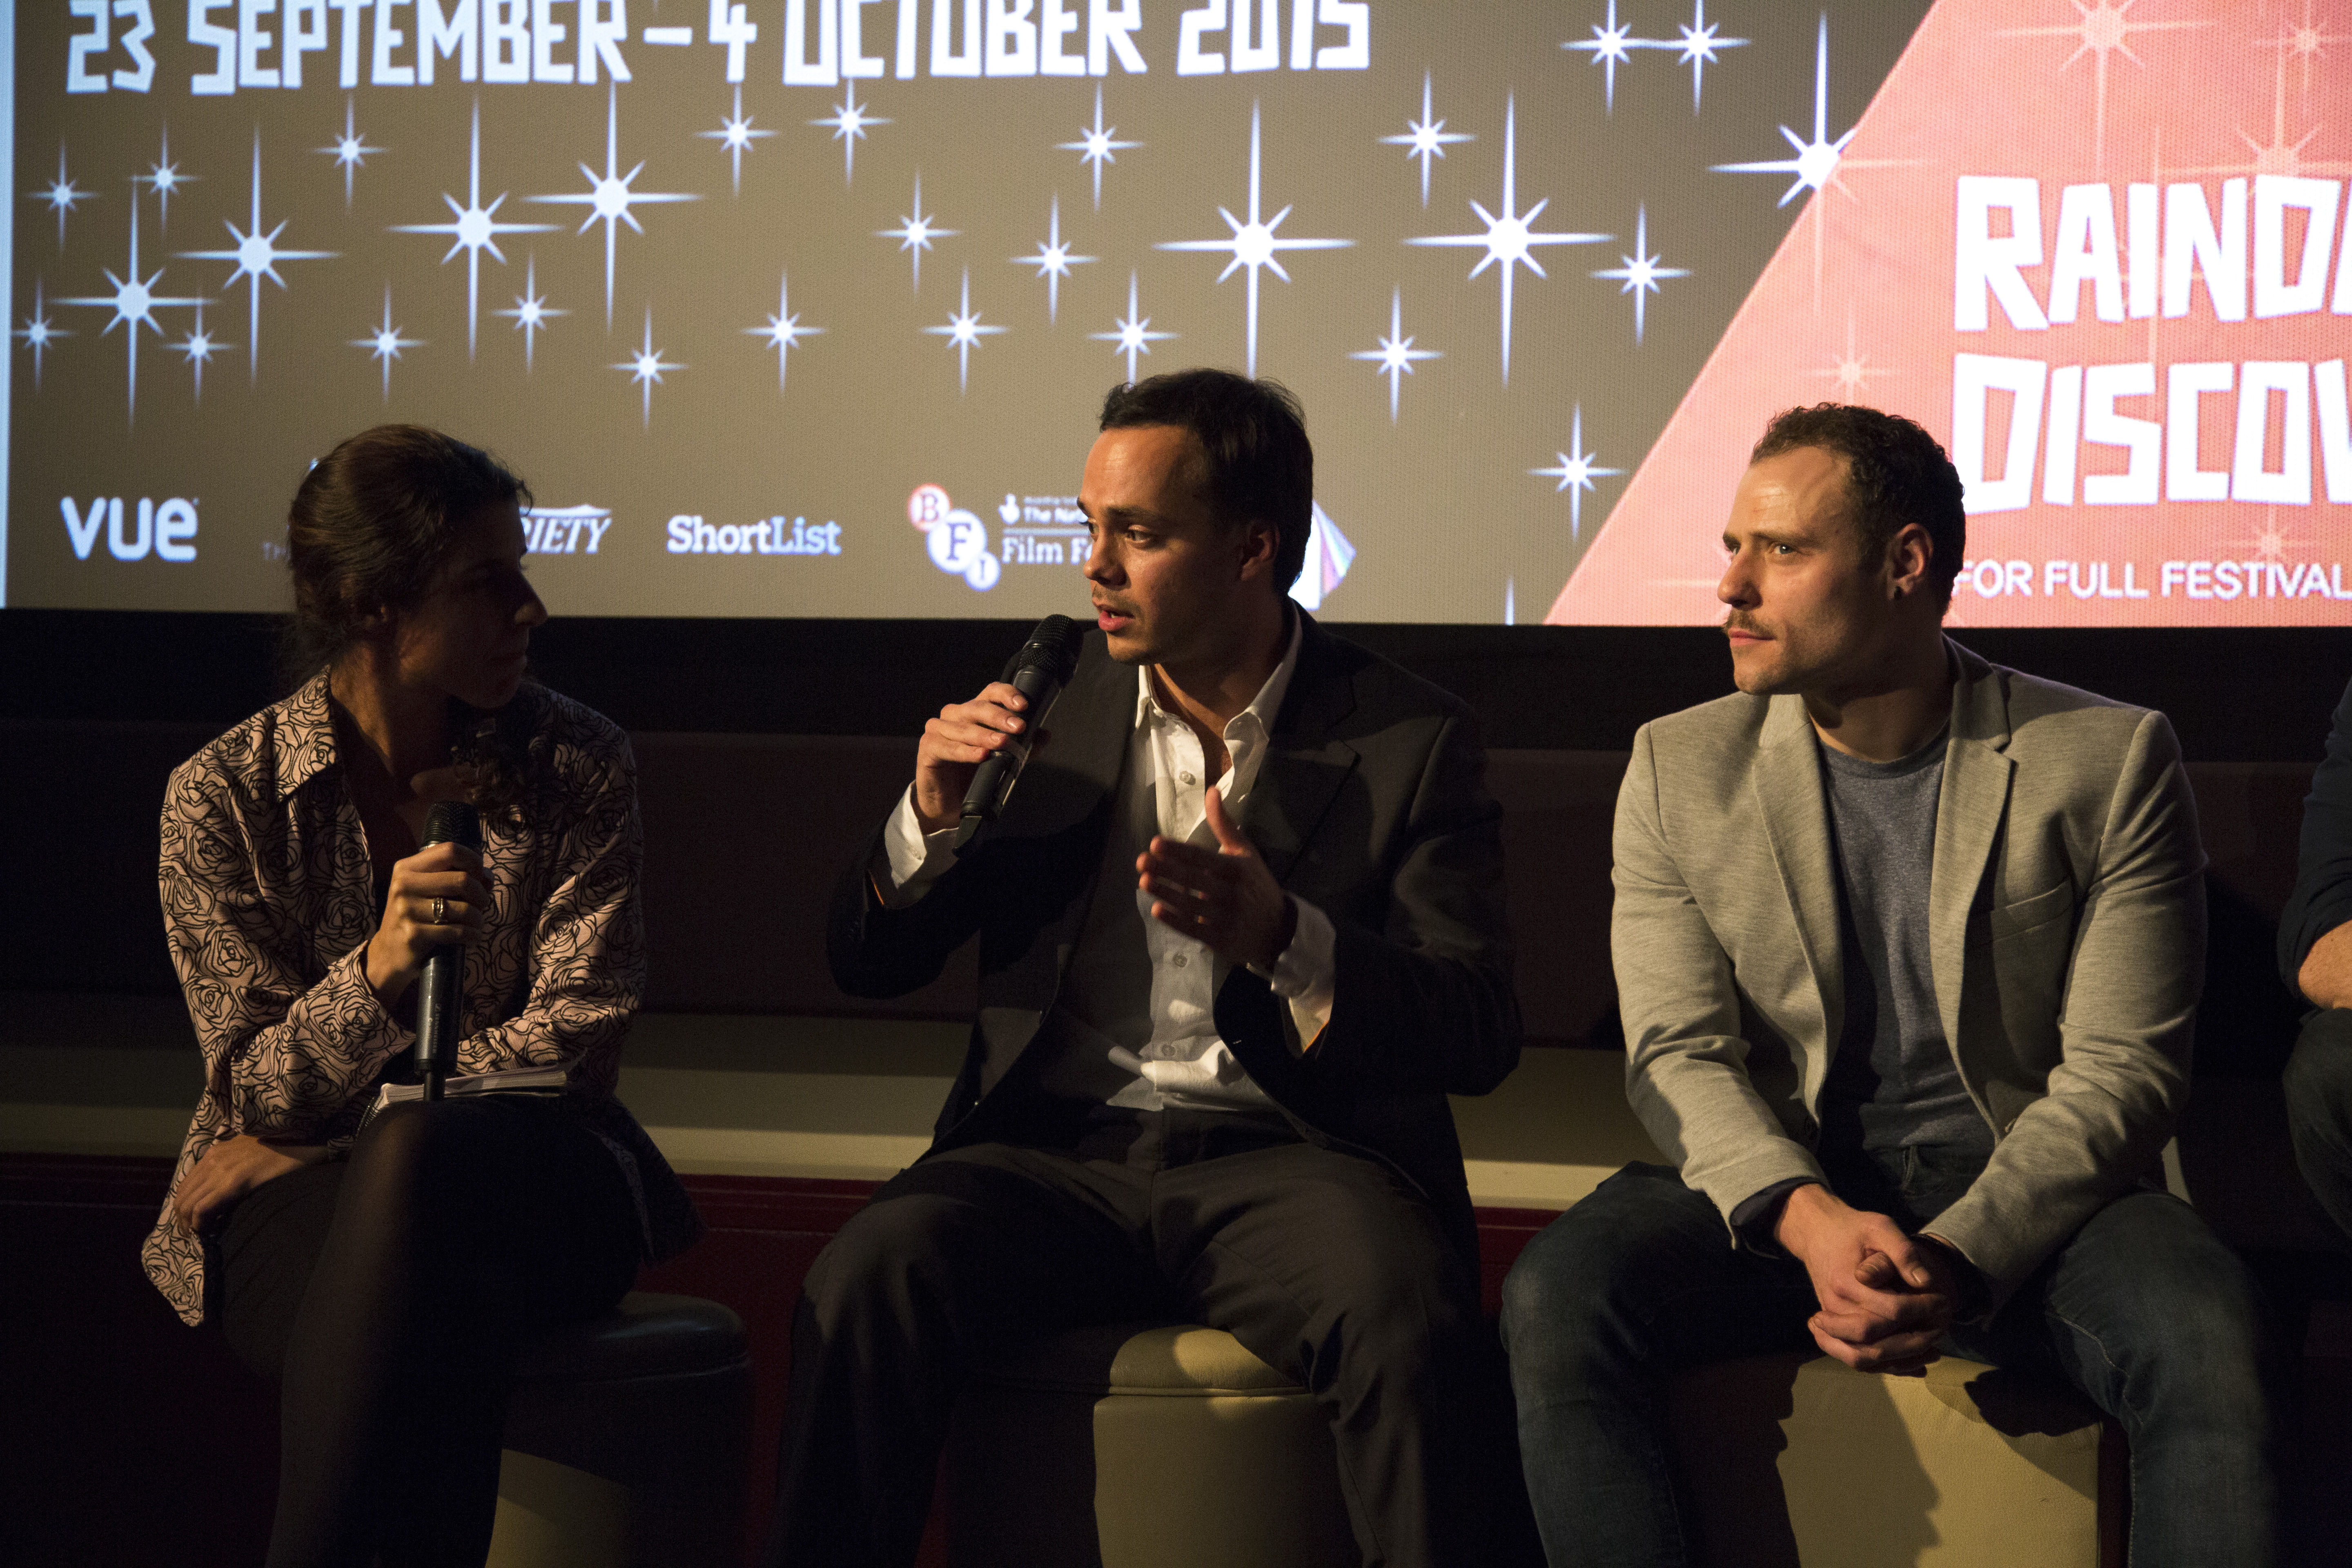
[[[1790,1354],[1689,1371],[1668,1413],[1710,1563],[2124,1561],[2124,1439],[2072,1389],[1957,1356],[1882,1378]]]

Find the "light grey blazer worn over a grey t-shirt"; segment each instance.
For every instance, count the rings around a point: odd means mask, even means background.
[[[1997,1298],[2159,1168],[2204,980],[2204,849],[2161,712],[1947,644],[1929,893],[1936,1001],[1992,1164],[1936,1234]],[[1820,1178],[1844,1025],[1837,870],[1799,696],[1644,724],[1616,811],[1625,1088],[1726,1215]]]

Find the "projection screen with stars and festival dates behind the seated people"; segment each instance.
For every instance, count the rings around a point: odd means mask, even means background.
[[[2336,21],[2331,21],[2336,16]],[[12,7],[5,597],[280,609],[379,421],[557,614],[1082,604],[1103,390],[1317,447],[1336,621],[1705,623],[1773,409],[1926,423],[1964,625],[2352,621],[2314,0]]]

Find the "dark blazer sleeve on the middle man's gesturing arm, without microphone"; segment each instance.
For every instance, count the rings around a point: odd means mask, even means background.
[[[1519,1065],[1503,809],[1463,715],[1439,724],[1423,762],[1383,926],[1331,924],[1331,1023],[1305,1056],[1315,1074],[1479,1095]]]

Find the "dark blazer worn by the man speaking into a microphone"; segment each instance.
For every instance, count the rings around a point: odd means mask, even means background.
[[[1477,1255],[1449,1093],[1519,1060],[1501,806],[1470,710],[1303,611],[1298,668],[1240,818],[1275,879],[1338,931],[1331,1023],[1301,1051],[1272,987],[1235,969],[1216,1030],[1310,1143],[1378,1159]],[[931,1152],[1000,1135],[1096,893],[1136,717],[1136,672],[1087,635],[1004,816],[906,910],[868,884],[880,827],[833,898],[828,957],[854,997],[898,997],[981,938],[981,1006]]]

